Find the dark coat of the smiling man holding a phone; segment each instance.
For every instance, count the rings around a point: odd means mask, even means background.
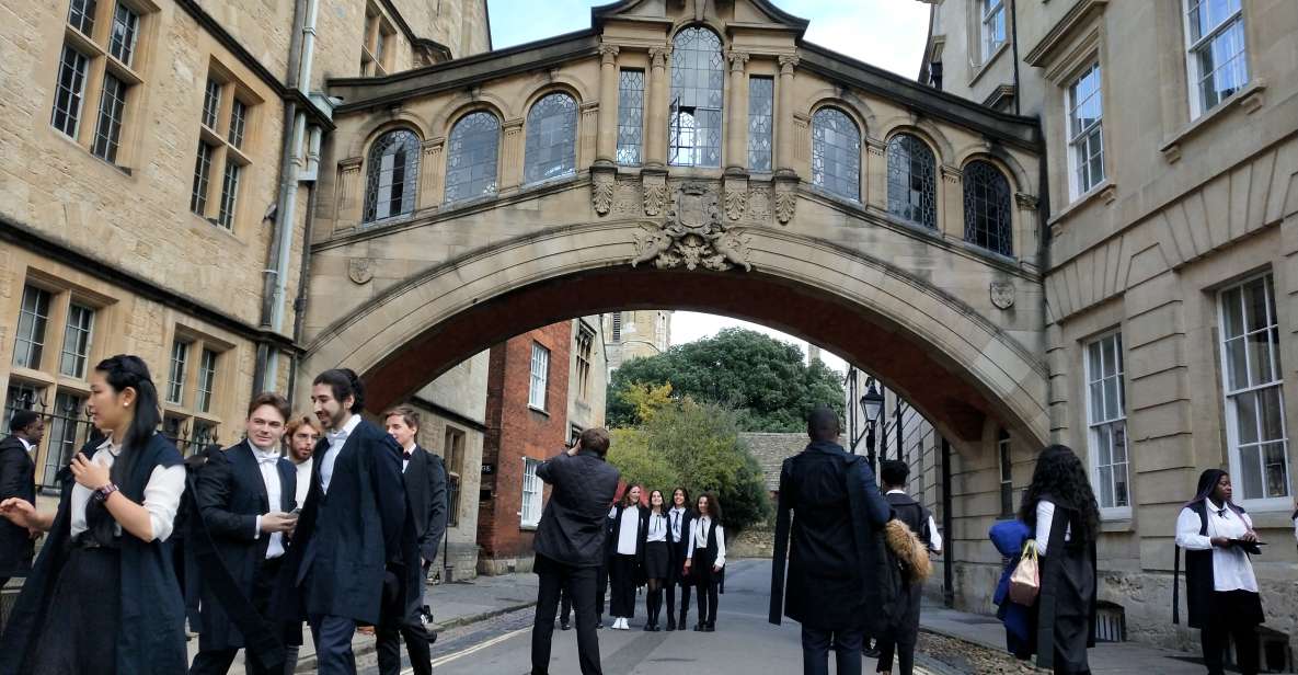
[[[283,457],[275,463],[279,471],[279,504],[270,505],[261,467],[248,441],[212,456],[197,471],[199,513],[212,535],[221,562],[230,571],[244,597],[252,597],[257,571],[266,559],[270,535],[256,527],[265,513],[288,513],[296,505],[297,470]],[[287,540],[286,540],[287,544]],[[201,584],[201,630],[199,648],[239,649],[245,646],[243,633],[226,615],[222,598],[212,584]]]

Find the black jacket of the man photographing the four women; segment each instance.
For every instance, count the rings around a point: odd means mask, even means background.
[[[554,485],[536,526],[536,553],[574,567],[604,565],[609,508],[618,493],[618,470],[594,450],[562,453],[536,469]]]

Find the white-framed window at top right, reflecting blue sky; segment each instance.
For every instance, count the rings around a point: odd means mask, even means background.
[[[1249,83],[1241,0],[1185,0],[1185,58],[1190,117]]]

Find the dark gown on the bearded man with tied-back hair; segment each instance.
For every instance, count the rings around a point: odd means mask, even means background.
[[[361,419],[334,461],[326,495],[321,466],[327,450],[328,439],[321,439],[274,604],[288,620],[331,615],[374,626],[384,587],[401,583],[409,559],[401,448]]]

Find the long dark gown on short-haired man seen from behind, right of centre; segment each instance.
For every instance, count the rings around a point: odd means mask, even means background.
[[[783,615],[816,628],[850,628],[864,620],[871,635],[885,630],[892,620],[897,575],[883,537],[889,517],[864,458],[832,443],[813,443],[785,460],[770,622],[779,624],[783,609]]]

